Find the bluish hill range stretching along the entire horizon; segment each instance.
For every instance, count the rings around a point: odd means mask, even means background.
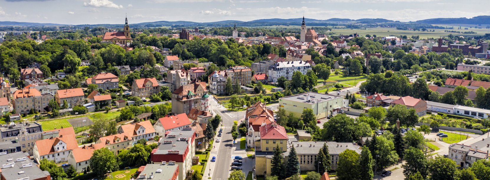
[[[235,20],[225,20],[218,22],[191,22],[191,21],[156,21],[156,22],[140,22],[140,23],[132,23],[132,25],[141,25],[141,26],[220,26],[225,25],[229,26],[230,24],[236,23],[239,26],[252,26],[257,25],[258,23],[264,23],[264,25],[295,25],[295,23],[301,23],[302,18],[293,18],[293,19],[259,19],[252,20],[248,22],[244,21],[235,21]],[[305,18],[305,22],[310,23],[312,25],[321,25],[327,23],[361,23],[361,24],[373,24],[373,23],[383,23],[383,22],[395,22],[387,19],[342,19],[342,18],[331,18],[327,20],[317,20],[317,19],[309,19]],[[396,21],[398,22],[398,21]],[[434,19],[426,19],[419,20],[416,22],[407,22],[407,23],[426,23],[426,24],[473,24],[473,25],[482,25],[482,24],[490,24],[490,16],[476,16],[473,18],[434,18]],[[58,23],[38,23],[38,22],[12,22],[12,21],[0,21],[0,26],[110,26],[110,25],[120,25],[120,24],[58,24]]]

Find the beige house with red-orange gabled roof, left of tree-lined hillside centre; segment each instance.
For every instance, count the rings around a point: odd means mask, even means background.
[[[143,78],[135,79],[133,81],[133,86],[131,87],[131,96],[137,96],[139,98],[150,97],[151,94],[157,94],[160,92],[160,86],[156,78]]]

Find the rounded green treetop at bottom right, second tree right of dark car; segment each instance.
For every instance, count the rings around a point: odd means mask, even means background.
[[[427,170],[431,180],[454,180],[456,173],[456,162],[450,158],[436,156],[429,159]]]

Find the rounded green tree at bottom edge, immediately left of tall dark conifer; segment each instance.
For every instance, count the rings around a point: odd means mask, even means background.
[[[346,149],[339,155],[337,179],[357,180],[359,177],[359,154],[354,150]]]

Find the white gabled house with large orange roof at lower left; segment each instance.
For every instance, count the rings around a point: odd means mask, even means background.
[[[56,163],[68,161],[68,154],[73,149],[78,148],[78,144],[73,127],[65,129],[71,131],[63,131],[57,137],[52,136],[48,139],[37,140],[34,143],[34,159],[47,158]]]

